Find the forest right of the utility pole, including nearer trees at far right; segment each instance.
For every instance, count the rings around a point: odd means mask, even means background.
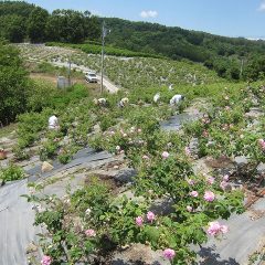
[[[147,22],[107,18],[107,43],[137,52],[203,63],[219,76],[257,80],[265,71],[265,42],[225,38]],[[242,75],[241,75],[241,70]]]

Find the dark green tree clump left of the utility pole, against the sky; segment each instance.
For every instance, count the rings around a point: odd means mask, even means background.
[[[20,1],[0,3],[0,38],[10,42],[81,43],[100,36],[99,21],[89,11],[57,9],[50,14],[45,9]]]

